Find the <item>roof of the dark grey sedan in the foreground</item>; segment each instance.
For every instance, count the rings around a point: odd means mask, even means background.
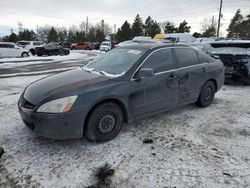
[[[136,50],[150,50],[150,49],[157,49],[157,48],[164,48],[164,47],[190,47],[186,44],[166,44],[166,43],[143,43],[143,44],[131,44],[126,46],[119,47],[120,49],[136,49]]]

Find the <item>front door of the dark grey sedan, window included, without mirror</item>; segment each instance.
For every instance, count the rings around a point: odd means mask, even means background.
[[[154,51],[141,68],[152,68],[154,75],[131,80],[130,101],[134,115],[174,108],[179,98],[179,84],[177,77],[173,76],[175,64],[171,48]]]

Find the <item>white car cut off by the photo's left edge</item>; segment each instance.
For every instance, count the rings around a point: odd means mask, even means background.
[[[12,42],[0,42],[0,58],[3,57],[28,57],[29,52],[26,49],[18,47]]]

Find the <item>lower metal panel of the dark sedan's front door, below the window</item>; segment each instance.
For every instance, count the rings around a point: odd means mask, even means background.
[[[131,82],[130,101],[135,116],[174,108],[178,103],[179,84],[170,80],[170,72]]]

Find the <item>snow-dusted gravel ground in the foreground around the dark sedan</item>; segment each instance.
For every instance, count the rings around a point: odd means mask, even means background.
[[[41,77],[0,79],[0,187],[98,187],[105,163],[115,171],[107,187],[250,186],[250,87],[223,86],[208,108],[188,105],[125,124],[117,138],[97,144],[45,139],[22,123],[20,93]]]

